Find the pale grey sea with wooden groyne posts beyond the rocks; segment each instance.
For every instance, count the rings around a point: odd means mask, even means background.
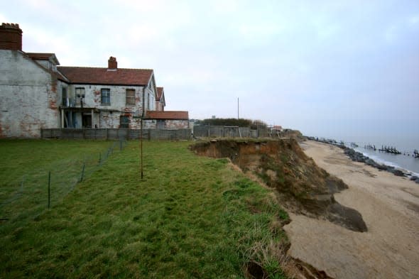
[[[419,151],[419,136],[343,136],[330,139],[338,143],[343,141],[345,146],[363,153],[376,163],[391,165],[419,177],[419,158],[413,156],[415,150]],[[352,147],[351,143],[356,143],[357,147]],[[376,151],[367,148],[368,146],[375,146]],[[379,151],[384,146],[396,148],[401,154]]]

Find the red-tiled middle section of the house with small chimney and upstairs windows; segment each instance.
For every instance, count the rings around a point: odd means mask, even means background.
[[[61,90],[61,128],[139,128],[133,116],[156,109],[153,70],[58,67],[68,83]]]

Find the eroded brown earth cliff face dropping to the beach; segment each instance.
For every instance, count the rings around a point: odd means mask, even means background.
[[[297,141],[217,140],[190,147],[199,155],[229,158],[244,172],[256,174],[278,193],[291,212],[332,221],[352,231],[366,231],[361,214],[336,202],[333,194],[347,189],[337,177],[319,168]]]

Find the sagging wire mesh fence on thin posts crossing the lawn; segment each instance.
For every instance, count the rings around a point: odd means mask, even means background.
[[[25,173],[18,185],[10,185],[13,190],[4,189],[3,195],[0,195],[0,221],[3,223],[0,231],[7,229],[8,224],[16,227],[36,219],[45,209],[62,202],[78,182],[99,170],[109,156],[121,152],[127,144],[126,140],[115,141],[100,153],[58,160],[54,162],[53,169],[43,167]]]

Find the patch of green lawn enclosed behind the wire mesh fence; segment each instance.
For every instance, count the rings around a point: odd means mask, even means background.
[[[107,141],[0,141],[0,218],[23,225],[58,204],[77,184],[101,167],[118,142]]]

